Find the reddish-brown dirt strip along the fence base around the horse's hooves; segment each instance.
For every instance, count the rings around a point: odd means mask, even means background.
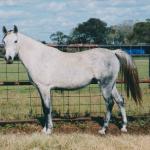
[[[98,123],[99,122],[99,123]],[[98,135],[98,130],[101,128],[101,119],[92,119],[91,121],[59,121],[54,122],[55,133],[90,133]],[[113,119],[110,123],[107,134],[120,135],[120,119]],[[7,124],[0,126],[0,133],[3,134],[32,134],[34,132],[41,132],[42,125],[40,123],[32,124]],[[150,119],[130,119],[128,124],[128,134],[150,134]]]

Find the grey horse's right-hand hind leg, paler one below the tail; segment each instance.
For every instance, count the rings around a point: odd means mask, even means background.
[[[125,106],[124,106],[124,99],[123,97],[118,93],[118,90],[116,88],[116,85],[113,87],[112,90],[112,96],[116,103],[118,104],[121,114],[122,114],[122,119],[123,119],[123,126],[121,128],[122,132],[127,132],[127,116],[126,116],[126,111],[125,111]]]

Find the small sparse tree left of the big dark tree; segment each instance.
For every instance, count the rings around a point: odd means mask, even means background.
[[[50,39],[58,45],[66,44],[68,36],[61,31],[57,31],[50,35]]]

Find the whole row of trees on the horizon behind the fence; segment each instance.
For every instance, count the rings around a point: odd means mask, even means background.
[[[63,32],[51,34],[50,39],[61,44],[139,44],[150,43],[150,19],[134,23],[133,20],[107,27],[100,19],[90,18],[73,29],[69,36]]]

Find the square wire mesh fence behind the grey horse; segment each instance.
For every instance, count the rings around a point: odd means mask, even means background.
[[[59,47],[65,49],[68,47]],[[81,51],[81,47],[76,47]],[[85,47],[87,49],[87,47]],[[71,49],[69,47],[69,49]],[[75,49],[75,48],[74,48]],[[82,47],[83,50],[83,47]],[[149,55],[133,57],[138,67],[140,85],[143,93],[143,106],[136,106],[131,98],[127,99],[124,84],[118,82],[117,87],[126,99],[128,115],[143,116],[150,114],[150,81]],[[105,104],[97,84],[75,90],[52,90],[53,117],[103,116]],[[117,106],[113,114],[118,115]],[[29,82],[27,72],[20,61],[7,65],[0,58],[0,120],[25,120],[42,115],[41,100],[34,86]]]

